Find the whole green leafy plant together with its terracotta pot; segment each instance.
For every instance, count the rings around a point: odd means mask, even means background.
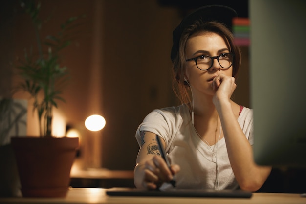
[[[61,66],[61,51],[70,45],[72,30],[78,17],[69,18],[56,35],[41,38],[43,25],[39,18],[40,3],[21,2],[23,11],[31,17],[35,29],[37,54],[25,51],[19,61],[18,75],[22,79],[18,91],[33,99],[33,111],[38,114],[40,137],[13,137],[19,177],[24,197],[65,197],[70,182],[70,169],[75,158],[78,138],[55,138],[51,133],[52,108],[64,101],[61,89],[68,78]]]

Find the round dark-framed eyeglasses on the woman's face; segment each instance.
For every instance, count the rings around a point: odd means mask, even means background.
[[[186,62],[194,60],[198,69],[206,71],[213,67],[214,59],[218,60],[221,68],[230,68],[233,64],[234,53],[223,53],[215,57],[200,55],[195,58],[188,59]]]

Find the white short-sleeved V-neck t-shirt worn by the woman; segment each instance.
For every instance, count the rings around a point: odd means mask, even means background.
[[[253,145],[253,111],[243,107],[238,122]],[[170,162],[181,168],[176,175],[177,188],[217,189],[218,186],[221,190],[239,187],[228,159],[224,137],[212,146],[202,141],[197,136],[186,105],[156,109],[149,113],[136,131],[139,146],[141,131],[152,132],[165,140]],[[165,184],[162,188],[168,186]]]

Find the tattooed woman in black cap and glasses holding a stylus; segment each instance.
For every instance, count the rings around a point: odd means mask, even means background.
[[[231,100],[241,56],[229,29],[236,15],[225,6],[201,7],[174,30],[171,59],[182,105],[154,110],[137,129],[137,188],[167,188],[175,176],[177,188],[256,191],[267,179],[271,168],[253,160],[253,112]]]

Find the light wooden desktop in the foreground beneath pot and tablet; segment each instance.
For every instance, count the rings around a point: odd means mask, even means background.
[[[103,188],[71,188],[66,198],[0,198],[0,204],[306,204],[300,194],[254,193],[251,198],[114,197]]]

